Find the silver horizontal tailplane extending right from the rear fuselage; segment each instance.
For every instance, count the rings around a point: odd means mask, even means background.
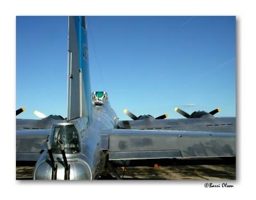
[[[102,134],[109,161],[236,156],[236,133],[111,129]]]

